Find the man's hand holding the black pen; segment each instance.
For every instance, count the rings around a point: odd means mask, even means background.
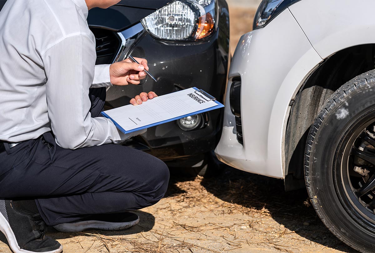
[[[134,57],[141,64],[125,59],[110,66],[110,77],[113,85],[139,84],[146,77],[143,69],[148,70],[147,60]]]

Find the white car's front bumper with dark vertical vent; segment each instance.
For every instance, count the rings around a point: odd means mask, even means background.
[[[243,35],[228,75],[223,131],[215,149],[219,160],[237,169],[284,178],[289,104],[321,61],[289,9],[266,27]],[[229,104],[234,77],[241,78],[243,145],[237,141]]]

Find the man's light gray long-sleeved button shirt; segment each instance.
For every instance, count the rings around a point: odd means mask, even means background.
[[[123,134],[89,112],[90,87],[111,86],[96,65],[85,0],[8,0],[0,12],[0,140],[45,132],[62,148],[119,143]]]

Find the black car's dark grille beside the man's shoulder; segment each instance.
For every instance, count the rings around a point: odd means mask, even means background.
[[[120,48],[120,38],[115,32],[101,28],[91,28],[96,41],[96,65],[111,64]]]

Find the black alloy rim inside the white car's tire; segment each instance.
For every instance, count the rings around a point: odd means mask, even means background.
[[[375,232],[375,114],[367,113],[342,136],[333,160],[333,181],[345,211]]]

